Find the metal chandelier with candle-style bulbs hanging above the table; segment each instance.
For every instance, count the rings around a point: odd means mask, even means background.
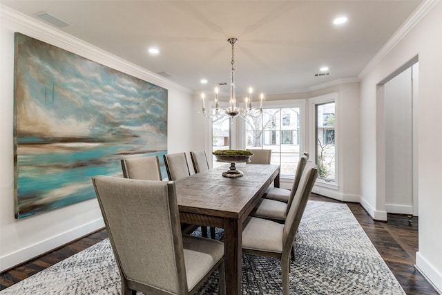
[[[218,87],[215,87],[215,108],[210,111],[206,111],[206,104],[205,99],[206,95],[201,93],[202,98],[202,115],[204,117],[238,117],[240,115],[244,119],[247,117],[258,117],[262,114],[262,100],[264,99],[264,94],[261,93],[260,95],[260,108],[259,110],[256,110],[252,106],[252,94],[253,94],[253,88],[249,88],[249,97],[244,98],[244,108],[241,108],[237,105],[236,102],[236,95],[235,95],[235,59],[234,59],[234,46],[238,42],[238,39],[236,38],[229,38],[227,39],[229,43],[232,46],[232,60],[231,60],[231,71],[230,71],[230,100],[229,100],[229,106],[227,108],[220,108],[220,102],[218,100],[218,93],[219,89]],[[213,113],[214,111],[214,113]]]

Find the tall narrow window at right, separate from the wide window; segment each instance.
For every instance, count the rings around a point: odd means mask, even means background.
[[[311,99],[314,111],[314,160],[318,165],[318,180],[335,182],[336,145],[335,145],[335,97],[323,95]]]

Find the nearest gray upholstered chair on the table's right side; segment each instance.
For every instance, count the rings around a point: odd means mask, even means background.
[[[308,162],[284,224],[250,216],[243,224],[242,253],[279,258],[284,295],[289,294],[292,245],[317,176],[318,166]]]

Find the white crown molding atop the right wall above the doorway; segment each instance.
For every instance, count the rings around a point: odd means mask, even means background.
[[[407,20],[402,24],[401,27],[394,32],[392,37],[388,39],[387,43],[381,48],[381,50],[374,55],[374,57],[369,61],[367,66],[363,68],[361,73],[358,74],[359,79],[365,78],[368,73],[373,70],[373,68],[396,46],[407,34],[412,30],[418,23],[427,15],[440,0],[424,0],[416,10],[407,18]]]

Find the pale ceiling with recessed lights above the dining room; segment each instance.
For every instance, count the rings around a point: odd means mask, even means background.
[[[192,91],[229,84],[230,37],[236,90],[291,93],[357,77],[421,0],[347,1],[5,1],[35,17],[70,24],[60,30]],[[336,26],[335,17],[347,23]],[[35,17],[37,18],[37,17]],[[156,46],[159,55],[147,49]],[[329,70],[316,77],[320,67]],[[207,84],[201,84],[205,78]],[[221,86],[222,93],[229,86]]]

